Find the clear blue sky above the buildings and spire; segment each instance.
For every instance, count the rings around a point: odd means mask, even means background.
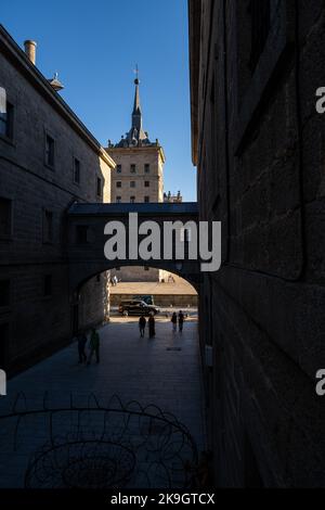
[[[38,42],[37,66],[58,72],[61,92],[98,140],[130,128],[139,64],[144,129],[167,157],[166,191],[196,200],[191,162],[186,0],[1,0],[0,22],[23,46]]]

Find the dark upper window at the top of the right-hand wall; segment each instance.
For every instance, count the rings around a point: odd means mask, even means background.
[[[264,50],[271,28],[271,0],[250,0],[251,53],[249,67],[253,72]]]

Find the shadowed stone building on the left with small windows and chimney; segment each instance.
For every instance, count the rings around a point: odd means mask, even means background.
[[[2,26],[0,87],[0,367],[13,373],[72,339],[66,211],[109,202],[115,165]],[[80,327],[102,322],[105,275],[76,298]]]

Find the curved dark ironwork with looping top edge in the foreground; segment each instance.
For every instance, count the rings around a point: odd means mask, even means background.
[[[193,484],[188,466],[198,462],[195,442],[176,417],[157,406],[142,407],[135,400],[125,406],[116,395],[107,405],[90,395],[87,405],[70,397],[67,406],[55,406],[46,394],[39,408],[28,409],[22,393],[12,411],[0,415],[1,425],[4,420],[10,423],[4,430],[13,431],[12,455],[17,456],[17,471],[24,467],[21,477],[27,488]]]

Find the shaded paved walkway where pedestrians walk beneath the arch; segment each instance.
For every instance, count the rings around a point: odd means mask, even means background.
[[[44,392],[48,405],[83,405],[90,394],[107,401],[117,394],[122,403],[139,400],[171,412],[193,435],[198,450],[205,448],[203,388],[200,383],[197,320],[191,317],[184,332],[173,333],[169,318],[156,320],[156,337],[147,332],[140,337],[138,318],[114,317],[100,330],[101,362],[78,365],[77,346],[72,344],[9,382],[8,396],[1,398],[1,413],[9,409],[18,392],[24,392],[27,408],[42,407]],[[17,408],[25,406],[24,399]],[[0,423],[1,425],[1,423]],[[13,423],[8,423],[8,437]],[[36,437],[30,431],[29,449]],[[37,437],[40,442],[40,437]],[[20,446],[18,446],[20,447]],[[0,436],[0,486],[21,486],[16,461],[9,454],[5,431]],[[20,454],[20,449],[18,449]],[[22,469],[26,458],[22,454]]]

